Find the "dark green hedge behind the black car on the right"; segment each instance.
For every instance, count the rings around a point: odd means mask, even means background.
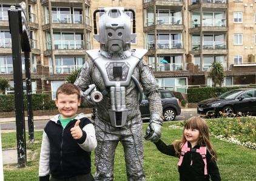
[[[203,87],[203,88],[188,88],[187,89],[187,101],[189,103],[197,103],[204,99],[212,97],[218,97],[220,94],[226,93],[226,91],[236,88],[244,87]],[[246,87],[249,88],[249,87]]]

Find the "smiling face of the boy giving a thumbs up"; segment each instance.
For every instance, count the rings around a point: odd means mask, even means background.
[[[55,100],[56,107],[58,107],[59,113],[64,119],[75,116],[80,103],[81,99],[78,99],[77,94],[59,93],[58,98]]]

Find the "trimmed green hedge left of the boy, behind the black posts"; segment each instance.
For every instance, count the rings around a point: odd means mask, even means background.
[[[33,110],[53,110],[56,109],[55,102],[49,94],[32,94]],[[27,96],[24,94],[24,110],[27,110]],[[0,95],[0,111],[15,111],[15,96]]]

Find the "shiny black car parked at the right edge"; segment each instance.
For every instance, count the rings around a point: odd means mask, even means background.
[[[220,115],[220,111],[227,116],[236,113],[256,113],[256,88],[239,88],[227,91],[217,98],[206,99],[198,103],[198,114],[214,113]]]

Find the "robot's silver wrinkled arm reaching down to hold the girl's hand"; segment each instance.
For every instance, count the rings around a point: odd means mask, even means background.
[[[143,86],[144,93],[148,97],[150,111],[150,121],[146,130],[145,139],[157,142],[161,137],[161,126],[163,125],[163,119],[161,118],[163,113],[161,97],[158,91],[157,81],[152,71],[142,60],[139,64],[141,70],[140,82]]]

